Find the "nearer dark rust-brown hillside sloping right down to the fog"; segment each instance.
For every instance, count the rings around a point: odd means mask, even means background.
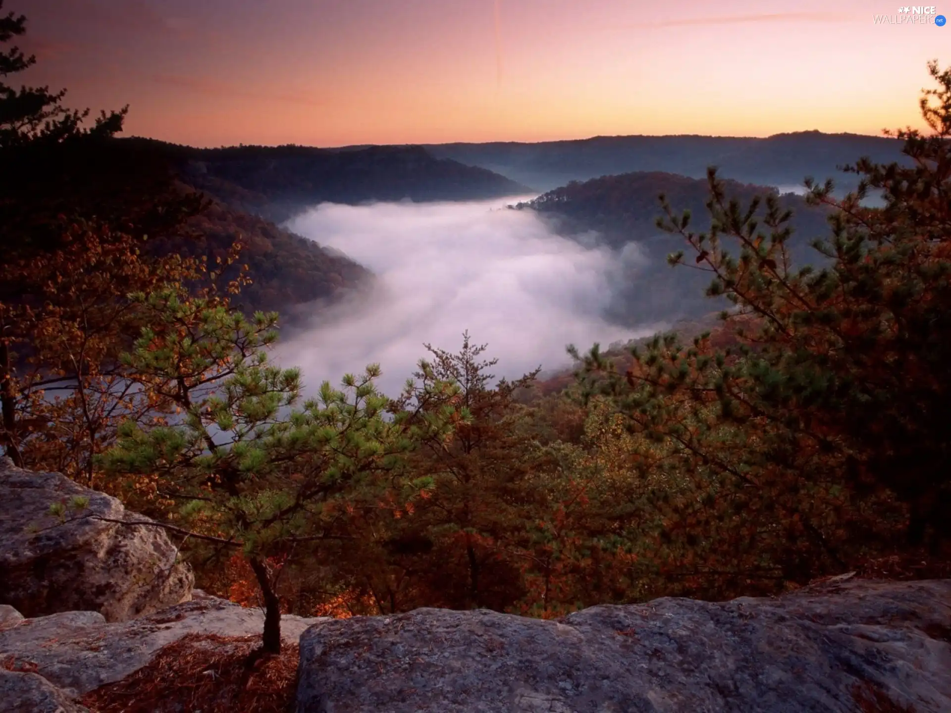
[[[187,149],[157,143],[90,137],[72,145],[10,147],[0,174],[0,228],[8,255],[27,258],[59,244],[64,219],[122,226],[151,255],[206,258],[215,264],[235,244],[247,265],[241,300],[250,310],[281,309],[334,299],[369,273],[353,260],[328,252],[189,183]],[[225,200],[223,200],[225,199]],[[222,274],[221,272],[219,274]],[[23,293],[22,285],[10,290]]]

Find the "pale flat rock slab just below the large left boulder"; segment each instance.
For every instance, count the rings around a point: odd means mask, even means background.
[[[308,626],[324,621],[329,620],[283,616],[281,636],[297,644]],[[263,626],[262,610],[215,597],[112,624],[95,611],[68,611],[0,630],[0,661],[12,654],[20,664],[35,667],[50,684],[78,697],[121,681],[151,662],[163,646],[187,634],[261,636]]]

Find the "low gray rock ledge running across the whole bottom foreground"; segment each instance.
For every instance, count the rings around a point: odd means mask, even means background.
[[[11,713],[82,713],[85,694],[165,646],[258,636],[263,621],[213,597],[111,624],[97,612],[24,619],[0,608],[0,701]],[[301,644],[298,713],[951,710],[951,581],[850,579],[553,621],[444,609],[285,616],[282,634]]]

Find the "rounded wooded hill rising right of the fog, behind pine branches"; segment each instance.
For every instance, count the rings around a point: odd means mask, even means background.
[[[735,181],[727,181],[726,187],[729,197],[744,203],[757,194],[778,193],[767,186]],[[723,309],[725,301],[705,296],[708,273],[689,266],[690,260],[688,266],[671,268],[667,264],[667,256],[685,245],[679,236],[656,227],[656,219],[663,213],[658,201],[661,193],[678,214],[690,211],[691,229],[708,229],[707,181],[657,171],[569,183],[511,207],[534,211],[565,237],[616,251],[610,318],[630,324],[670,323]],[[793,259],[800,265],[817,262],[822,256],[809,243],[828,235],[825,210],[791,194],[781,196],[780,202],[793,211],[795,233],[789,242]]]

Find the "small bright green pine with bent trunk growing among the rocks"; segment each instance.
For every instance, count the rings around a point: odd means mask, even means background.
[[[128,422],[104,465],[154,478],[181,504],[166,525],[241,550],[265,607],[262,650],[278,652],[277,585],[291,555],[335,539],[341,503],[397,473],[423,431],[378,393],[376,365],[344,376],[342,390],[323,382],[295,408],[300,373],[266,357],[276,314],[248,319],[181,290],[139,299],[151,318],[126,363],[175,413],[154,426]],[[431,419],[424,431],[444,428]]]

